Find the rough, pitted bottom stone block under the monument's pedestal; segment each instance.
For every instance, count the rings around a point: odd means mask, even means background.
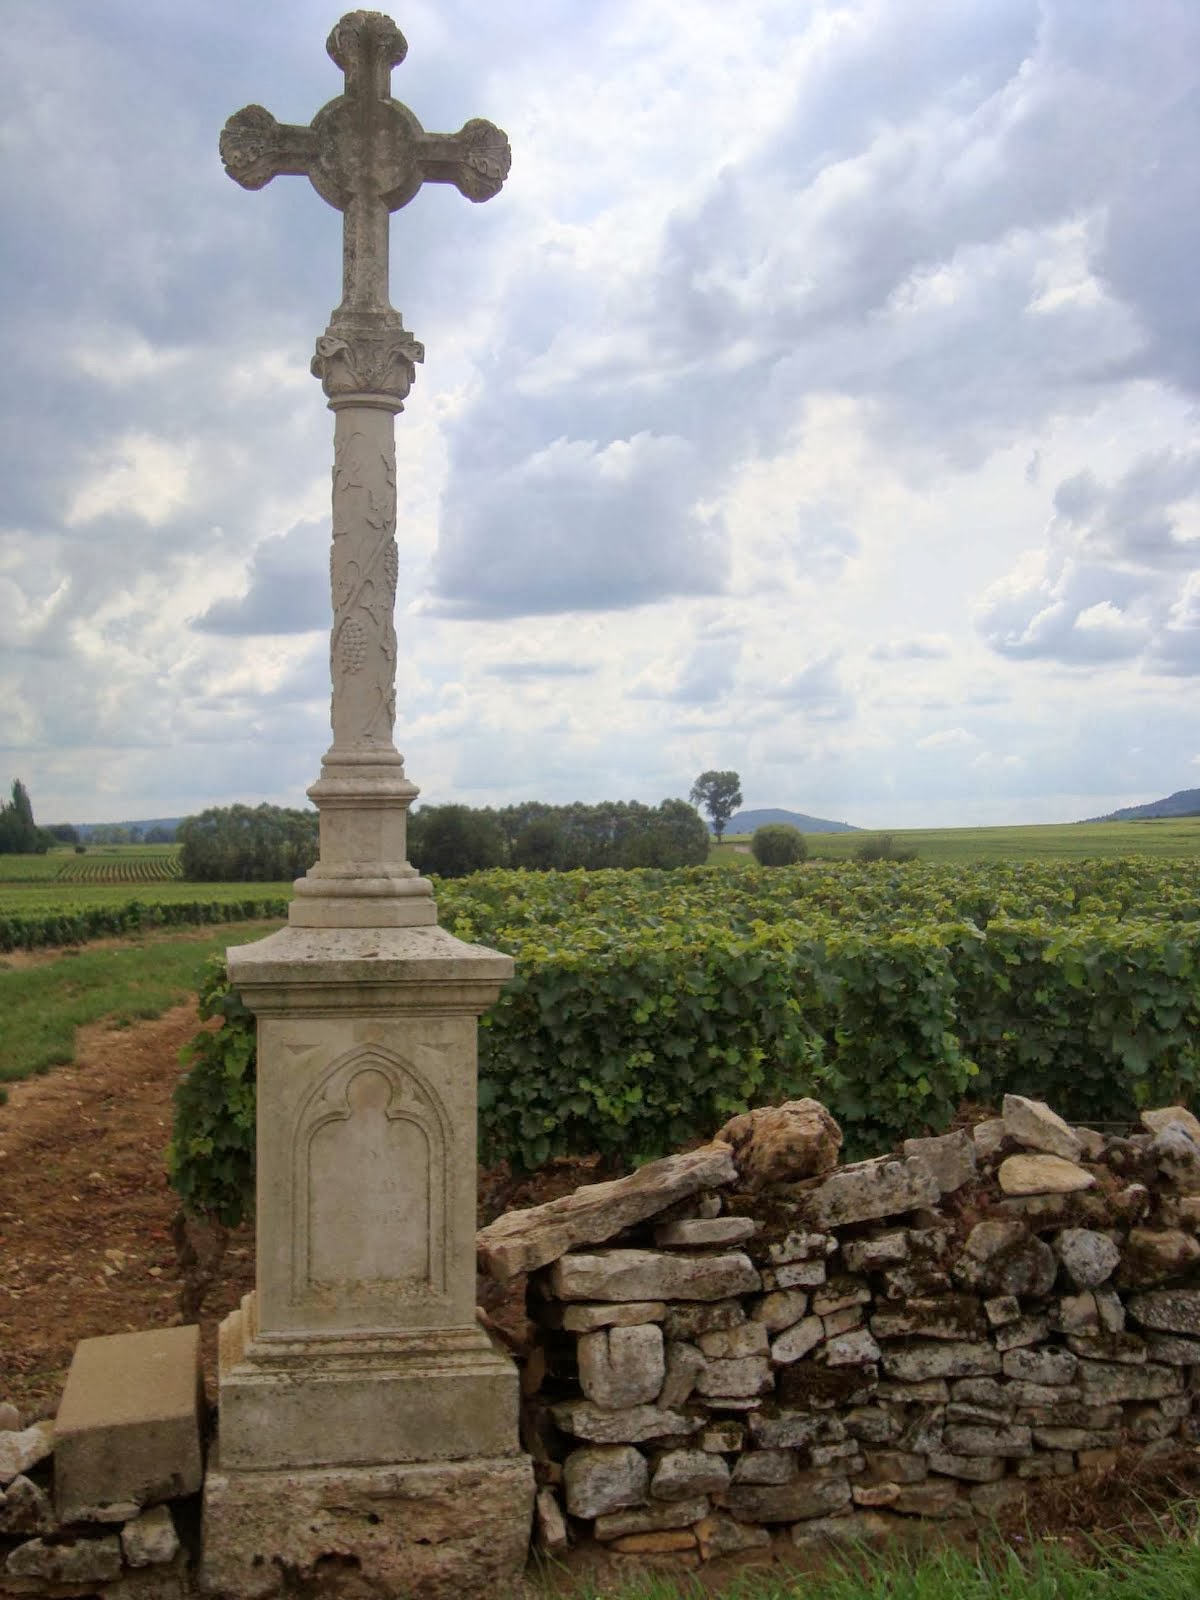
[[[531,1514],[526,1456],[294,1472],[214,1462],[200,1589],[227,1600],[507,1600]]]

